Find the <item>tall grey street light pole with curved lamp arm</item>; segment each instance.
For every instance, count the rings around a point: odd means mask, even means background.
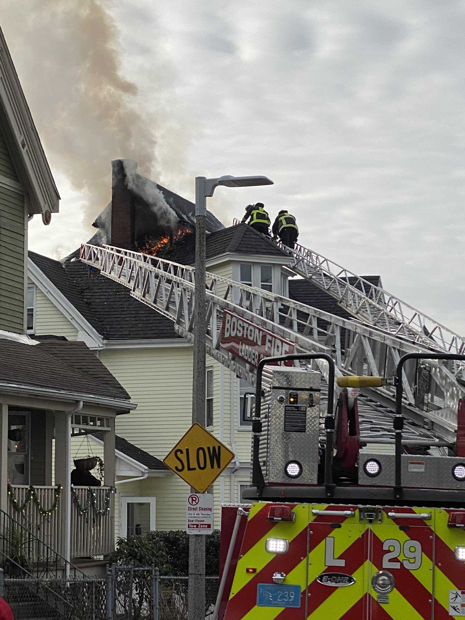
[[[218,185],[250,187],[273,185],[268,177],[232,177],[218,179],[195,177],[195,301],[193,308],[192,423],[205,426],[205,340],[206,340],[206,197],[213,196]],[[195,489],[191,487],[191,492]],[[205,620],[205,534],[189,536],[188,620]]]

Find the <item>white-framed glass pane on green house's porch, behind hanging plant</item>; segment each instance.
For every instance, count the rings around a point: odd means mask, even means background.
[[[29,412],[8,414],[8,482],[29,484]]]

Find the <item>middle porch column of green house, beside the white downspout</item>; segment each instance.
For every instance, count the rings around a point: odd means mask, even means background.
[[[61,484],[61,548],[60,554],[70,560],[71,554],[71,414],[55,412],[55,484]]]

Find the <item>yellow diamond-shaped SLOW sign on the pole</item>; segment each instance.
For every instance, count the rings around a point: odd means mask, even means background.
[[[234,452],[195,422],[163,463],[198,493],[203,493],[233,458]]]

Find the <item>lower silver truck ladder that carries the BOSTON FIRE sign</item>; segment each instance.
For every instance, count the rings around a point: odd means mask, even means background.
[[[91,244],[81,247],[80,257],[88,265],[99,268],[102,275],[130,288],[133,297],[171,319],[178,334],[193,340],[193,267],[130,250]],[[409,342],[374,325],[342,319],[215,273],[206,273],[206,285],[207,352],[250,384],[255,383],[254,368],[232,358],[221,348],[223,311],[293,343],[296,352],[329,353],[339,376],[391,376],[401,355],[427,350],[418,342]],[[442,363],[428,360],[421,368],[427,372],[428,380],[422,382],[420,390],[418,368],[409,366],[404,371],[404,415],[426,438],[454,441],[456,408],[459,398],[465,397],[464,388]],[[325,364],[319,370],[325,376]],[[371,398],[378,408],[394,410],[391,386],[364,389],[364,396]],[[427,410],[423,410],[425,402]]]

